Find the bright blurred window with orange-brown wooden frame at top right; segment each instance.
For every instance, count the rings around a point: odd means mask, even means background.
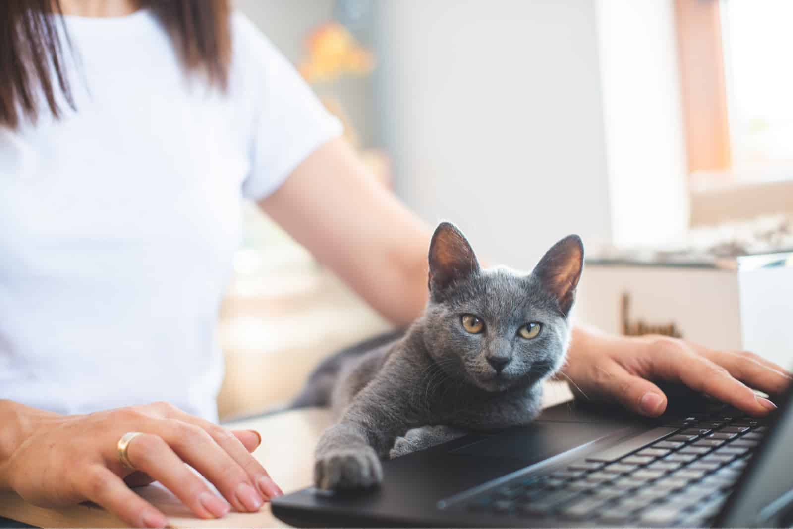
[[[692,189],[793,180],[793,2],[675,4]]]

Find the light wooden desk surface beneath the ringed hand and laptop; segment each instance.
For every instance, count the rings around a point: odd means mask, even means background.
[[[570,398],[572,394],[565,383],[549,382],[543,406]],[[254,455],[275,482],[289,493],[311,484],[314,446],[329,424],[330,413],[324,409],[303,409],[238,421],[229,426],[254,429],[262,434],[262,444]],[[255,513],[231,512],[220,519],[200,519],[158,484],[136,490],[168,516],[171,527],[288,527],[273,516],[270,504]],[[0,516],[40,527],[128,527],[102,508],[85,504],[61,509],[40,508],[13,493],[0,494]]]

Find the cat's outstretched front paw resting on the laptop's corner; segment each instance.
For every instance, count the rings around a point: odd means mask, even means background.
[[[362,489],[381,481],[383,467],[372,447],[330,451],[314,464],[314,485],[319,489]]]

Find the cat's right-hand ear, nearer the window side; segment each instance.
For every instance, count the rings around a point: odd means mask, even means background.
[[[584,243],[568,235],[546,252],[531,275],[554,295],[561,314],[567,316],[576,300],[576,287],[584,271]]]

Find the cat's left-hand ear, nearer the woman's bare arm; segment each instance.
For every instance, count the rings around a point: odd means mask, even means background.
[[[430,291],[437,293],[455,281],[479,273],[479,261],[465,235],[454,224],[440,223],[430,242]]]

